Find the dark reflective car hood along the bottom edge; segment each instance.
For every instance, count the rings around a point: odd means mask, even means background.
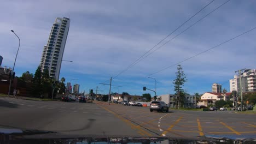
[[[65,135],[54,131],[2,129],[0,143],[252,143],[256,139],[228,139],[225,137],[130,137],[130,136],[82,136]]]

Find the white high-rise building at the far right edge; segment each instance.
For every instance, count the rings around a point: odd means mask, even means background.
[[[246,69],[241,73],[242,92],[256,92],[256,69]],[[240,95],[239,75],[229,80],[230,92],[236,91]]]

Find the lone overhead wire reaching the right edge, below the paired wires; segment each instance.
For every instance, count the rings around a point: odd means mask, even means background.
[[[207,49],[207,50],[205,50],[205,51],[202,51],[202,52],[200,52],[200,53],[197,53],[197,54],[194,55],[194,56],[191,56],[191,57],[189,57],[189,58],[186,58],[186,59],[184,59],[184,60],[181,61],[181,62],[177,62],[177,63],[175,63],[175,64],[173,64],[173,65],[170,65],[170,66],[168,66],[168,67],[166,67],[166,68],[164,68],[164,69],[158,70],[158,71],[156,71],[155,73],[150,74],[150,75],[148,75],[148,76],[152,76],[152,75],[154,75],[154,74],[160,73],[160,72],[163,71],[163,70],[166,70],[166,69],[168,69],[168,68],[171,68],[171,67],[173,67],[174,65],[177,65],[177,64],[180,64],[180,63],[182,63],[182,62],[188,61],[189,59],[191,59],[191,58],[193,58],[193,57],[196,57],[196,56],[201,55],[202,53],[205,53],[205,52],[207,52],[207,51],[210,51],[210,50],[212,50],[212,49],[214,49],[214,48],[216,48],[216,47],[218,47],[218,46],[220,46],[220,45],[223,45],[223,44],[225,44],[225,43],[228,43],[229,41],[231,41],[231,40],[233,40],[233,39],[236,39],[236,38],[240,37],[240,36],[243,35],[243,34],[246,34],[246,33],[248,33],[248,32],[253,31],[254,29],[256,29],[256,27],[254,27],[254,28],[252,28],[252,29],[249,29],[249,30],[246,31],[246,32],[243,32],[243,33],[237,35],[236,37],[233,37],[233,38],[231,38],[231,39],[229,39],[229,40],[226,40],[226,41],[224,41],[223,43],[220,43],[220,44],[218,44],[218,45],[216,45],[216,46],[213,46],[213,47],[211,47],[210,49]],[[146,76],[146,77],[148,77],[148,76]]]

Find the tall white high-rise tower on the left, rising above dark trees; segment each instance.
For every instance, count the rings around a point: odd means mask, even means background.
[[[63,52],[66,45],[70,20],[57,17],[51,28],[47,45],[44,46],[40,66],[48,70],[51,78],[59,80]]]

